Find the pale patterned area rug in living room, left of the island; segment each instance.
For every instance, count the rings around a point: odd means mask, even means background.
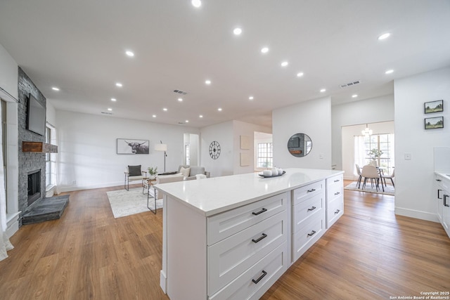
[[[151,193],[152,190],[150,190]],[[131,214],[139,214],[144,211],[150,211],[147,207],[147,194],[142,193],[142,188],[130,188],[129,190],[112,190],[107,192],[108,200],[110,200],[111,210],[113,210],[114,218],[122,216],[130,216]],[[155,209],[155,199],[150,197],[148,206]],[[162,208],[162,199],[156,200],[156,208]]]

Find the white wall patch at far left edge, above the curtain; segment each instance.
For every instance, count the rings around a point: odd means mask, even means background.
[[[18,99],[18,64],[0,44],[0,87]]]

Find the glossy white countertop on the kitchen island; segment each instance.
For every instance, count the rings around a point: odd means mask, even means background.
[[[262,178],[257,173],[179,181],[154,185],[157,190],[174,197],[204,216],[264,199],[320,181],[344,171],[319,169],[284,169],[286,174]]]

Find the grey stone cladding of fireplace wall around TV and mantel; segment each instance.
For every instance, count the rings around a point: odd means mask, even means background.
[[[20,217],[23,216],[28,207],[28,172],[41,170],[41,197],[45,195],[46,176],[45,176],[45,153],[22,152],[23,141],[45,142],[45,136],[27,130],[27,103],[30,93],[39,103],[46,107],[46,98],[41,91],[37,89],[30,77],[19,67],[18,78],[18,136],[19,136],[19,211]],[[19,226],[22,226],[20,220]]]

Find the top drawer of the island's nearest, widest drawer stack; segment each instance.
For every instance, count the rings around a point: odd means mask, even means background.
[[[212,216],[207,219],[207,244],[211,246],[240,230],[274,216],[285,210],[287,205],[288,193],[282,193]]]

